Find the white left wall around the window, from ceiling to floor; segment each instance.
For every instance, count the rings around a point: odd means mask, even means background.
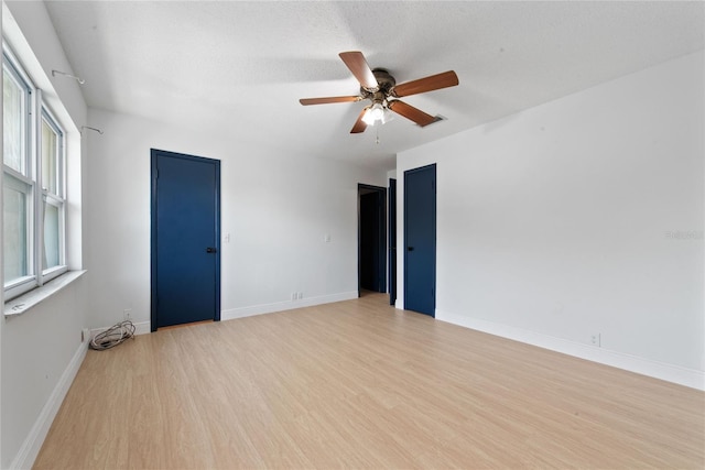
[[[3,35],[35,85],[44,91],[68,140],[68,244],[70,269],[83,266],[82,164],[86,150],[78,129],[87,108],[78,85],[52,78],[70,73],[42,2],[3,2]],[[0,238],[1,238],[0,232]],[[0,243],[2,250],[2,243]],[[1,256],[0,256],[1,258]],[[30,467],[86,351],[85,277],[19,317],[0,319],[0,467]]]

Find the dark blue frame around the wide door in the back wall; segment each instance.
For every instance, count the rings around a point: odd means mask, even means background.
[[[214,321],[220,321],[220,161],[215,159],[206,159],[203,156],[188,155],[185,153],[177,152],[169,152],[165,150],[151,149],[151,175],[150,175],[150,184],[151,184],[151,201],[150,201],[150,330],[151,332],[156,331],[158,325],[158,315],[156,315],[156,275],[158,275],[158,256],[156,256],[156,182],[159,177],[159,173],[156,170],[156,160],[159,156],[167,156],[174,159],[189,160],[192,162],[205,162],[214,165],[215,170],[215,248],[216,248],[216,260],[215,260],[215,270],[216,270],[216,285],[215,285],[215,313],[214,313]]]

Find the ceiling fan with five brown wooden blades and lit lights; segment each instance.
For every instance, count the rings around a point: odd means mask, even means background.
[[[436,122],[440,118],[426,114],[422,110],[395,98],[458,85],[458,77],[453,70],[397,85],[397,80],[394,80],[394,77],[392,77],[386,68],[370,68],[361,52],[341,52],[338,55],[360,83],[360,95],[302,98],[299,102],[308,106],[369,99],[371,103],[366,106],[360,112],[360,116],[358,116],[355,125],[352,125],[350,130],[351,134],[365,132],[368,125],[373,125],[378,121],[384,123],[389,118],[389,111],[403,116],[422,128]]]

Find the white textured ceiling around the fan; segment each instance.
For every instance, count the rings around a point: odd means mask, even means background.
[[[90,107],[380,168],[405,149],[704,47],[701,1],[46,3]],[[459,86],[404,98],[447,120],[397,117],[351,135],[365,102],[301,106],[358,92],[343,51],[362,51],[398,83],[454,69]]]

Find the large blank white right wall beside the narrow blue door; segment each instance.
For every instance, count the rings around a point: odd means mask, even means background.
[[[436,318],[704,387],[704,83],[693,54],[399,154],[400,201],[437,162]]]

